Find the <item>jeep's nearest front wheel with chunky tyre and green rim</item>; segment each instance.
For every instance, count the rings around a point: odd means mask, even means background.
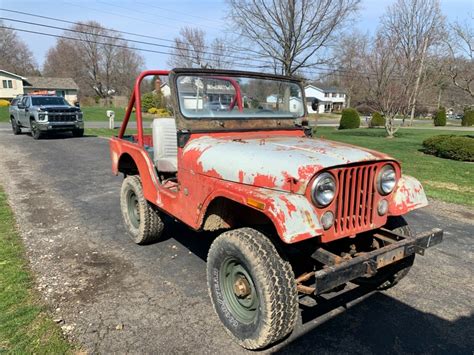
[[[214,310],[244,348],[263,348],[293,330],[298,316],[293,270],[260,232],[222,233],[209,250],[207,282]]]

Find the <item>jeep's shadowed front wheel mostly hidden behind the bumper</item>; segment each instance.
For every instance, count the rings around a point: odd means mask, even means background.
[[[389,217],[387,224],[384,227],[407,237],[413,235],[403,217]],[[360,286],[373,287],[378,290],[387,290],[398,284],[401,279],[408,275],[414,261],[415,254],[379,269],[372,277],[360,277],[352,282]]]

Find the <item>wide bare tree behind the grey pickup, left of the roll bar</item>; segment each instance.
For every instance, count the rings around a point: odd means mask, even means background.
[[[109,98],[128,94],[143,58],[115,32],[90,21],[72,26],[68,37],[58,39],[46,56],[46,75],[75,79],[84,95]]]

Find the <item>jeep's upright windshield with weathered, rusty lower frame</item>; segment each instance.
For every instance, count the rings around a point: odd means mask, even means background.
[[[192,114],[184,107],[184,85],[180,82],[183,79],[188,82],[200,80],[204,86],[207,81],[208,89],[211,88],[207,93],[207,102],[204,97],[198,98],[198,100],[194,99],[194,103],[203,108],[203,110],[197,110],[200,112]],[[267,88],[273,86],[274,89],[280,87],[281,90],[280,92],[273,90],[275,91],[273,92],[272,89],[267,89],[266,93],[269,95],[257,91],[260,94],[259,103],[265,106],[261,106],[262,109],[259,109],[257,105],[252,108],[249,91],[247,91],[251,83]],[[187,68],[173,69],[169,74],[169,84],[177,127],[190,132],[301,129],[301,122],[307,116],[302,84],[299,80],[287,76],[235,70]],[[187,86],[189,89],[190,85]],[[193,88],[197,90],[199,86],[201,85],[194,85]],[[225,93],[226,90],[227,93]],[[286,97],[281,92],[286,93]],[[227,101],[222,104],[220,100],[218,103],[214,103],[215,99],[209,100],[211,95],[228,97]],[[274,103],[267,102],[271,101],[267,100],[270,96],[276,96]],[[284,102],[289,108],[288,104],[291,98],[293,98],[292,101],[298,102],[299,107],[296,113],[281,109],[284,107]],[[217,107],[206,108],[206,104],[209,103]]]

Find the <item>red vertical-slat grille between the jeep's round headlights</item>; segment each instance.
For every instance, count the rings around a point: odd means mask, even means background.
[[[377,165],[335,171],[339,181],[334,232],[337,236],[370,228],[374,218]]]

